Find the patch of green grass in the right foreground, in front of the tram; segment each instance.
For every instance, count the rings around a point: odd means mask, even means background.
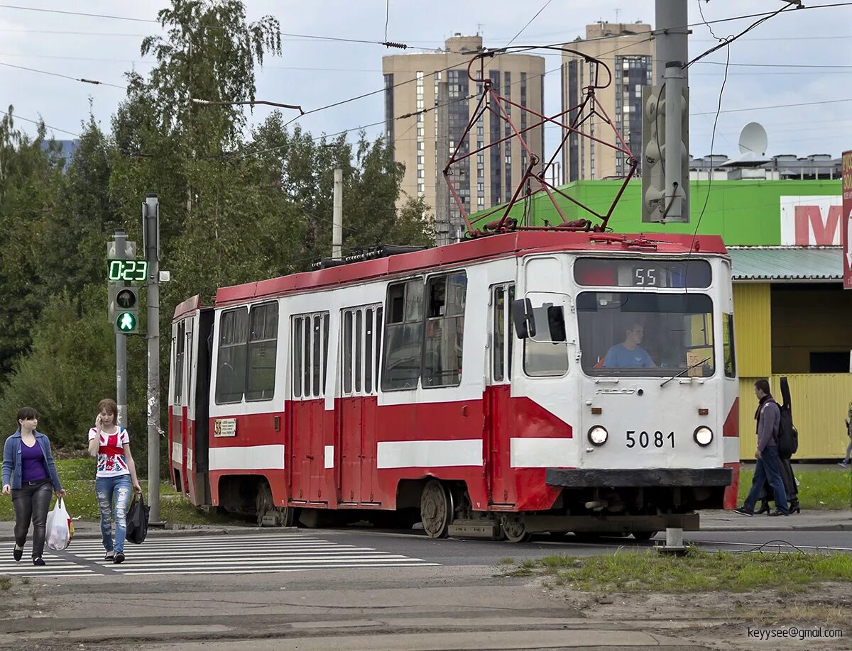
[[[508,574],[542,575],[556,585],[595,592],[803,591],[824,581],[852,582],[852,556],[757,551],[734,554],[693,547],[682,557],[653,550],[582,558],[548,556],[521,562]]]

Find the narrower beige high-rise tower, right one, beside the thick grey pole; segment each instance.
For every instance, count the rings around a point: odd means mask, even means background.
[[[645,23],[600,22],[586,26],[585,38],[566,43],[566,48],[602,60],[612,71],[612,83],[596,90],[598,106],[613,120],[636,162],[642,165],[642,86],[653,85],[653,40],[651,26]],[[584,89],[594,81],[596,64],[577,54],[562,54],[562,110],[579,105]],[[605,70],[599,71],[600,83],[607,82]],[[566,116],[570,123],[575,111]],[[584,112],[585,115],[585,112]],[[616,144],[613,130],[593,117],[579,128],[583,134]],[[575,180],[618,179],[629,171],[625,156],[601,143],[570,134],[562,151],[566,182]],[[641,167],[637,168],[641,173]]]

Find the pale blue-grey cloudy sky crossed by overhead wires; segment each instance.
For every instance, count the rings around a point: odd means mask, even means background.
[[[35,125],[26,120],[41,117],[58,140],[78,134],[90,110],[101,128],[109,130],[110,117],[124,98],[124,90],[106,84],[123,86],[124,73],[131,69],[143,75],[150,71],[153,60],[142,58],[139,48],[143,37],[162,33],[156,15],[166,2],[0,3],[0,106],[5,110],[13,105],[16,126],[31,134]],[[781,0],[684,2],[688,2],[690,24],[697,23],[689,37],[690,58],[717,43],[708,26],[701,24],[699,3],[709,21],[775,11],[784,4]],[[248,20],[271,14],[279,20],[282,32],[382,42],[387,23],[387,40],[417,48],[439,48],[456,32],[478,32],[486,47],[494,48],[503,47],[515,35],[515,45],[566,43],[584,36],[584,26],[597,20],[653,25],[654,17],[652,0],[247,0],[245,4]],[[827,153],[839,157],[841,151],[852,149],[852,101],[837,101],[852,100],[852,3],[822,9],[820,4],[832,2],[804,0],[804,4],[814,9],[785,11],[729,46],[731,66],[712,143],[725,49],[690,67],[690,153],[694,157],[711,153],[711,146],[714,154],[738,155],[740,131],[752,121],[763,124],[769,134],[768,155]],[[726,37],[754,20],[711,27],[718,37]],[[308,111],[369,93],[383,86],[382,57],[399,53],[375,43],[284,37],[281,56],[269,57],[262,70],[256,71],[256,98],[300,105]],[[547,54],[545,59],[544,111],[554,114],[561,111],[559,55]],[[805,103],[808,106],[780,106]],[[256,106],[250,124],[262,122],[272,110]],[[295,115],[284,112],[288,118]],[[361,125],[380,122],[383,117],[383,94],[378,93],[317,111],[300,118],[299,123],[314,135],[353,129],[354,137]],[[383,127],[366,131],[376,137]]]

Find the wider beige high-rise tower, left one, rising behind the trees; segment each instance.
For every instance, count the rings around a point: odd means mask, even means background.
[[[446,39],[442,52],[398,54],[382,60],[386,135],[394,148],[394,159],[406,165],[400,204],[408,197],[423,197],[435,211],[436,228],[446,231],[442,224],[449,225],[444,242],[455,241],[462,233],[463,220],[458,206],[445,190],[443,170],[475,115],[482,94],[482,83],[468,77],[469,61],[481,50],[482,37],[456,34]],[[478,73],[479,64],[471,70]],[[485,75],[491,80],[492,88],[506,99],[544,112],[543,57],[503,54],[486,59]],[[446,100],[442,99],[445,94]],[[538,122],[538,118],[516,106],[505,108],[521,131]],[[396,119],[407,114],[412,116]],[[470,130],[459,153],[476,151],[511,133],[504,119],[486,111]],[[541,160],[544,129],[531,128],[524,138]],[[515,138],[454,164],[452,182],[465,211],[474,213],[511,198],[528,163],[527,151]],[[438,242],[442,243],[440,232]]]

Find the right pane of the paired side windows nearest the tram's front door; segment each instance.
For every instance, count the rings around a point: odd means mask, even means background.
[[[429,278],[423,388],[456,386],[462,381],[464,302],[468,279],[463,273]]]

